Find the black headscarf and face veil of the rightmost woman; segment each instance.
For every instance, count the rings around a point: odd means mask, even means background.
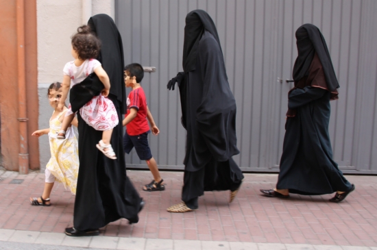
[[[295,82],[298,82],[302,77],[308,76],[314,53],[317,53],[324,69],[328,90],[334,91],[339,88],[325,38],[318,27],[311,23],[306,23],[297,29],[295,36],[298,51],[297,59],[293,66],[293,79]]]

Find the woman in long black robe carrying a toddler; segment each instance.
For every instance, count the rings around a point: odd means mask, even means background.
[[[88,25],[101,40],[101,51],[97,60],[101,62],[110,78],[111,87],[108,98],[114,103],[121,121],[121,114],[125,113],[126,104],[121,36],[112,18],[106,14],[92,16]],[[91,80],[87,77],[83,83]],[[95,82],[95,80],[88,84],[89,88],[96,85],[98,81]],[[71,90],[71,95],[80,96],[80,100],[90,93],[90,91],[77,90],[77,88],[73,90],[74,93]],[[77,100],[77,103],[80,100]],[[71,100],[71,104],[74,106],[75,103]],[[80,114],[77,116],[80,169],[73,214],[74,227],[66,228],[66,234],[69,236],[98,235],[100,227],[117,221],[119,218],[127,218],[130,223],[137,223],[143,200],[126,175],[121,125],[114,127],[112,132],[111,144],[118,158],[111,160],[95,147],[102,132],[87,125]]]

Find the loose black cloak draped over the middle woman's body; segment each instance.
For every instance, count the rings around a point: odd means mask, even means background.
[[[224,162],[238,154],[236,101],[219,45],[207,31],[199,41],[196,69],[186,73],[185,88],[185,169],[197,171],[211,159]]]

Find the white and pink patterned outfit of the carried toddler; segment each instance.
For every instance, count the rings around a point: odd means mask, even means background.
[[[93,73],[97,66],[101,66],[101,63],[95,59],[85,60],[80,66],[75,66],[74,61],[67,62],[63,73],[71,77],[71,87],[73,87]],[[66,116],[70,114],[73,114],[71,105],[69,105]],[[103,95],[93,97],[93,99],[80,108],[80,116],[88,125],[99,131],[112,129],[119,123],[114,103]]]

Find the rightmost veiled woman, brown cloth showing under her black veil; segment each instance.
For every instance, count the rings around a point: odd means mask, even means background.
[[[338,99],[339,84],[330,53],[315,25],[305,24],[295,34],[295,87],[289,91],[286,132],[276,189],[260,190],[268,197],[324,195],[336,192],[340,202],[354,190],[332,160],[328,123],[330,100]]]

